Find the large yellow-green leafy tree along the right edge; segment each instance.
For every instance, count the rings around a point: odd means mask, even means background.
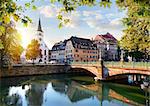
[[[150,1],[149,0],[118,0],[120,8],[127,9],[127,18],[123,19],[126,26],[120,41],[123,49],[133,57],[150,56]]]

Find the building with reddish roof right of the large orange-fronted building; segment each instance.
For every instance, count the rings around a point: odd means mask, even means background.
[[[99,50],[99,58],[104,60],[118,60],[117,39],[110,33],[97,35],[94,43]]]

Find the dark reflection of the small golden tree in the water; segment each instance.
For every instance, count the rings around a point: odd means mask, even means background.
[[[43,94],[47,84],[33,83],[31,89],[27,92],[26,97],[28,106],[41,106],[43,103]]]

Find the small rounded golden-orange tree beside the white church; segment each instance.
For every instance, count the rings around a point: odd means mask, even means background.
[[[34,60],[40,56],[40,44],[37,40],[33,39],[31,43],[27,46],[26,50],[26,58],[28,60],[32,60],[34,64]]]

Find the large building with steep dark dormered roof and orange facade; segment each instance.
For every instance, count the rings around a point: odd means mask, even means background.
[[[96,62],[98,50],[90,39],[71,37],[65,47],[66,62]]]

